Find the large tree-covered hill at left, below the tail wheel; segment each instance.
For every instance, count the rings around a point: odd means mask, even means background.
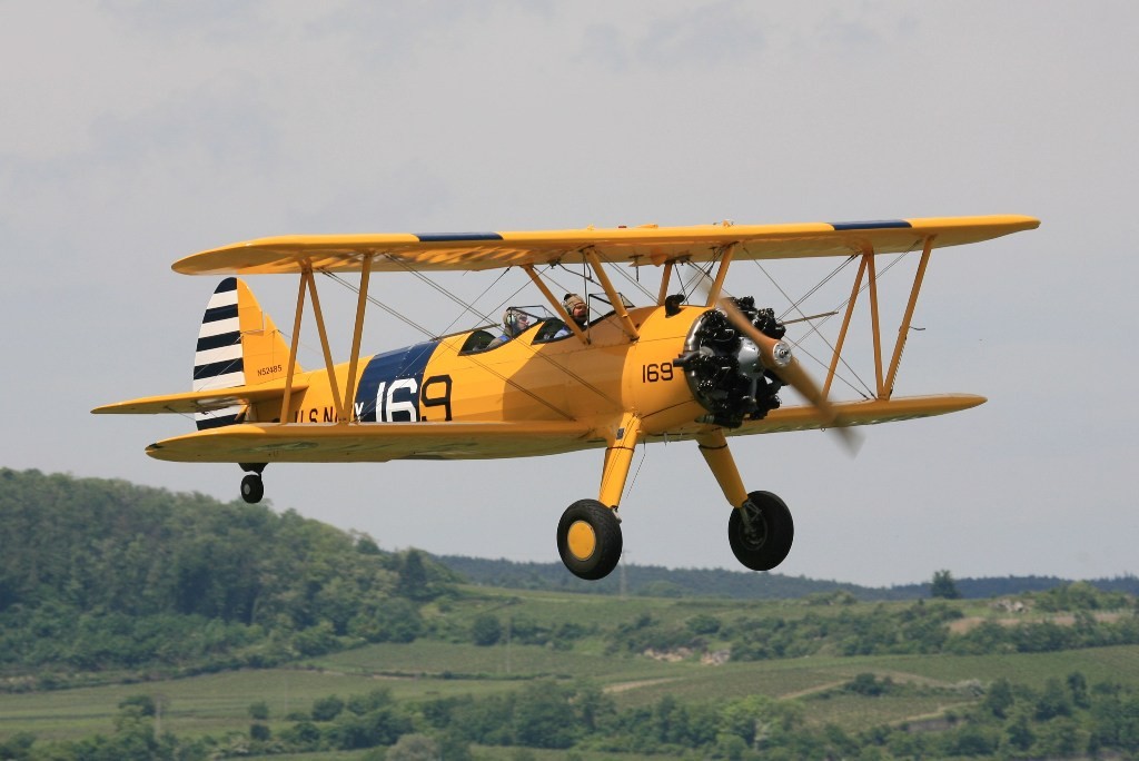
[[[279,662],[413,639],[457,580],[289,510],[0,468],[0,666]],[[199,668],[199,666],[196,666]]]

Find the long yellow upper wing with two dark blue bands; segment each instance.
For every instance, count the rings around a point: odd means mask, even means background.
[[[577,263],[592,251],[612,263],[706,262],[735,245],[735,259],[849,256],[989,240],[1040,224],[1031,216],[947,216],[804,224],[702,224],[695,227],[466,232],[453,235],[312,235],[261,238],[187,256],[185,275],[269,275],[314,270],[354,272],[372,255],[374,271],[487,270],[522,264]]]

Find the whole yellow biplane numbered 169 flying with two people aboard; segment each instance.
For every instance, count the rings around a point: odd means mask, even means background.
[[[849,434],[849,426],[944,415],[984,402],[968,394],[893,396],[926,264],[934,248],[1038,226],[1029,216],[1005,215],[239,243],[173,265],[186,275],[227,276],[198,333],[192,391],[93,411],[192,414],[197,432],[151,444],[147,453],[182,463],[237,463],[247,473],[241,496],[248,502],[261,499],[261,474],[270,463],[483,459],[604,449],[597,499],[575,501],[557,527],[562,559],[582,579],[605,576],[621,557],[617,507],[636,445],[693,440],[734,508],[728,535],[737,559],[748,568],[770,570],[790,550],[792,515],[775,494],[744,488],[728,437],[808,428]],[[918,257],[888,361],[878,325],[876,257],[882,254]],[[724,295],[734,262],[817,256],[858,263],[821,385],[795,359],[784,339],[787,327],[771,309]],[[550,289],[552,268],[573,265],[597,286],[590,304],[595,319],[575,319]],[[672,293],[679,280],[674,272],[689,265],[699,269],[703,285],[687,295]],[[609,273],[621,267],[659,272],[655,303],[634,306],[617,292]],[[361,355],[374,275],[505,268],[525,271],[546,302],[508,310],[532,322],[517,335],[483,325]],[[316,275],[344,272],[360,273],[359,296],[351,354],[334,363]],[[236,277],[267,273],[300,276],[288,342]],[[830,386],[851,317],[867,291],[876,390],[866,399],[833,401]],[[302,369],[296,359],[306,306],[320,336],[320,369]],[[780,403],[778,393],[788,385],[805,406]]]

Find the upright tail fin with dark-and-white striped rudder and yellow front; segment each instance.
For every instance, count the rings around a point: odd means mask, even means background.
[[[243,280],[226,278],[218,285],[198,329],[194,353],[194,391],[255,386],[285,377],[288,344],[272,319],[261,311]],[[297,366],[296,371],[301,368]],[[232,425],[246,419],[238,404],[194,416],[198,429]]]

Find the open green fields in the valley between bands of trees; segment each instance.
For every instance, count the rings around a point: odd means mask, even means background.
[[[1003,655],[819,655],[721,665],[704,664],[698,655],[669,662],[638,653],[606,654],[609,640],[604,632],[644,616],[679,627],[695,615],[726,621],[740,616],[790,619],[808,612],[837,616],[843,611],[902,609],[910,604],[888,604],[894,608],[877,607],[880,604],[837,608],[812,607],[800,602],[620,599],[481,588],[467,588],[466,592],[466,597],[448,603],[444,609],[428,609],[425,615],[445,620],[454,631],[464,630],[476,616],[490,612],[507,625],[523,620],[542,624],[568,620],[592,633],[575,640],[570,648],[514,641],[480,647],[469,641],[421,639],[369,645],[284,668],[0,694],[0,738],[17,733],[32,733],[41,742],[106,735],[114,731],[120,702],[133,695],[148,695],[158,703],[159,733],[220,738],[247,733],[248,707],[256,702],[268,706],[268,725],[276,735],[290,723],[286,717],[308,711],[319,698],[329,695],[346,698],[379,687],[391,690],[399,702],[416,702],[508,693],[535,678],[564,684],[588,680],[601,687],[618,709],[650,706],[665,696],[702,703],[763,695],[797,702],[808,726],[831,723],[855,730],[958,711],[978,699],[978,687],[1000,678],[1040,688],[1050,678],[1063,680],[1079,671],[1089,682],[1122,679],[1139,684],[1139,646]],[[970,615],[998,615],[976,603],[960,604],[962,608],[966,605]],[[865,673],[888,677],[893,684],[910,689],[901,695],[877,697],[842,690],[843,685]]]

